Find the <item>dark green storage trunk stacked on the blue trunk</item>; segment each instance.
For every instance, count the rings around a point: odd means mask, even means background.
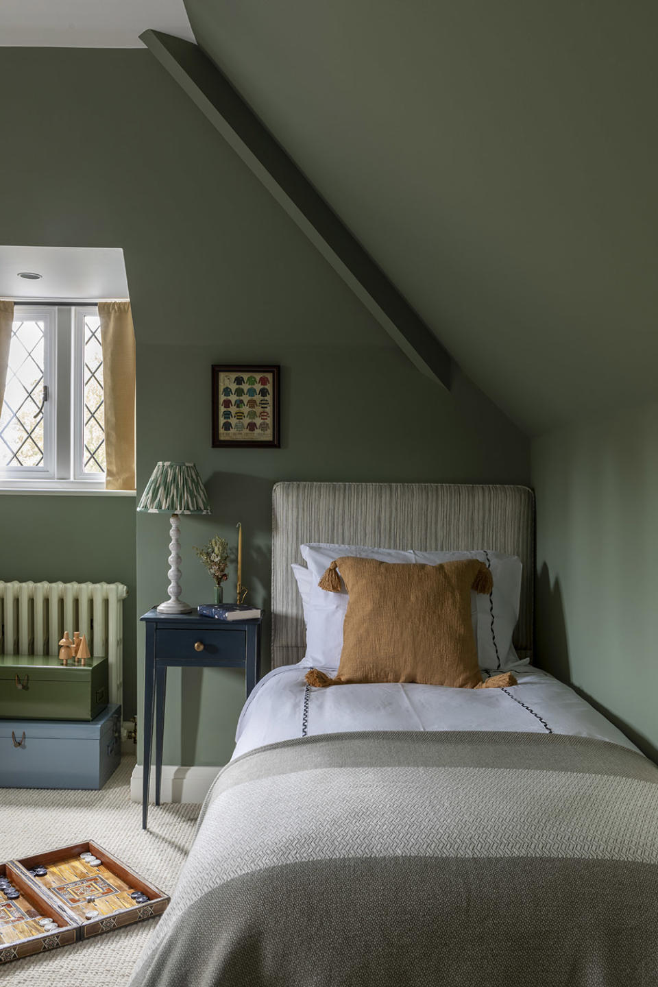
[[[108,702],[107,658],[0,654],[0,720],[95,720]]]

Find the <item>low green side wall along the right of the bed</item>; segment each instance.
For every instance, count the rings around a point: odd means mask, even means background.
[[[658,404],[536,439],[537,650],[658,758]]]

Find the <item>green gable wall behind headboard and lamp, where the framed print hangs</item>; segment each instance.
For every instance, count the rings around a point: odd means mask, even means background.
[[[277,480],[528,482],[527,439],[459,372],[448,394],[410,366],[149,52],[3,48],[0,92],[2,240],[123,249],[138,491],[158,459],[193,460],[213,508],[182,521],[188,602],[210,590],[191,546],[242,521],[267,606]],[[281,449],[210,447],[210,364],[237,360],[282,365]],[[168,542],[165,516],[137,516],[139,612],[166,595]],[[229,670],[172,673],[165,761],[223,763],[243,696]]]

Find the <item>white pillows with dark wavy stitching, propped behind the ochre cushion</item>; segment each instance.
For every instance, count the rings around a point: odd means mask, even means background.
[[[519,618],[521,595],[521,560],[501,552],[406,552],[395,549],[373,549],[363,545],[308,544],[300,547],[308,569],[293,565],[297,579],[304,620],[306,622],[306,654],[301,664],[337,668],[342,649],[342,624],[347,611],[348,595],[328,593],[318,582],[334,559],[354,556],[389,563],[420,563],[436,566],[457,559],[479,559],[491,569],[493,589],[490,595],[471,594],[472,620],[477,659],[480,668],[503,670],[525,664],[520,660],[512,635]]]

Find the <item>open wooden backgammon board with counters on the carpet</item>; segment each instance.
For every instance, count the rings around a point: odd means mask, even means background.
[[[0,865],[0,964],[160,915],[163,894],[98,843]]]

